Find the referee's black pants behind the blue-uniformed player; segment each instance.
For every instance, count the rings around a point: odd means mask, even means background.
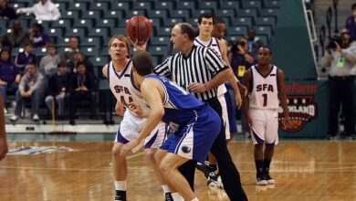
[[[221,119],[222,109],[219,100],[215,97],[210,100],[205,100],[205,102],[219,114]],[[238,173],[231,155],[227,150],[223,121],[221,121],[221,124],[221,130],[219,135],[216,137],[210,152],[213,153],[216,158],[216,162],[219,167],[219,174],[227,196],[233,201],[245,201],[247,200],[247,196],[241,185],[240,174]],[[194,189],[195,164],[196,163],[191,160],[179,168],[181,173],[188,180],[192,189]]]

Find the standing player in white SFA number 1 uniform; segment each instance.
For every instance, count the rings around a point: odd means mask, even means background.
[[[252,142],[255,144],[257,185],[275,184],[275,180],[269,175],[269,165],[278,143],[278,100],[285,117],[283,121],[285,125],[290,125],[284,73],[271,65],[271,59],[270,48],[258,48],[257,65],[248,69],[244,76],[244,84],[249,92],[244,97],[244,109],[247,126],[252,132]]]

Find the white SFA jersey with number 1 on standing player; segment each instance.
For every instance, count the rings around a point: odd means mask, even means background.
[[[272,66],[266,75],[258,71],[256,66],[251,67],[252,85],[249,95],[249,107],[254,109],[277,109],[278,108],[278,82],[277,67]]]

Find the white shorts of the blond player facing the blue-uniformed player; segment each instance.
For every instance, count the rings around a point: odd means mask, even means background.
[[[116,133],[115,143],[129,143],[139,136],[142,126],[147,121],[127,110],[123,114],[119,131]],[[144,140],[144,148],[160,148],[166,138],[167,126],[160,122],[149,136]]]

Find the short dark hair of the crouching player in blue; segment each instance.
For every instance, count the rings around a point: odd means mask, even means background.
[[[153,71],[151,55],[146,51],[136,51],[132,57],[132,66],[141,76],[151,74]]]

